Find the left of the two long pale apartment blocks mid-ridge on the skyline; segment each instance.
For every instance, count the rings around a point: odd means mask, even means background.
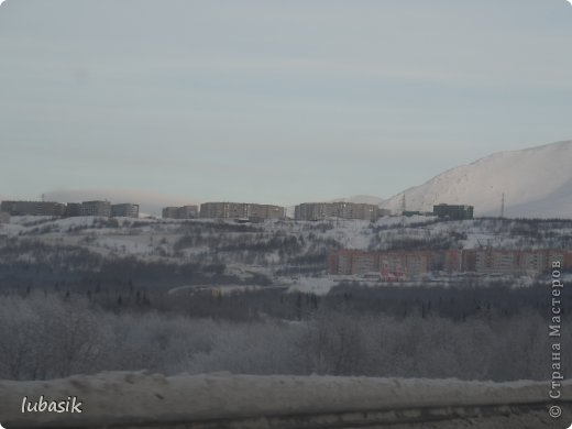
[[[248,202],[205,202],[200,205],[201,218],[218,219],[282,219],[284,207]]]

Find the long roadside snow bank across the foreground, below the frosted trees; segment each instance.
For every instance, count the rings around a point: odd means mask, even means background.
[[[572,385],[562,402],[572,400]],[[395,411],[463,406],[546,404],[548,383],[461,382],[333,376],[253,376],[213,373],[165,377],[145,372],[101,373],[50,382],[0,382],[7,428],[103,426],[106,422],[197,421],[328,413]],[[77,396],[82,414],[22,414],[22,398]],[[568,409],[568,408],[566,408]],[[398,419],[399,414],[395,414]],[[397,421],[397,420],[396,420]]]

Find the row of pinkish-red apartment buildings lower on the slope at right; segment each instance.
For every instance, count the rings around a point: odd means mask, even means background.
[[[483,274],[539,274],[552,262],[572,266],[568,250],[468,249],[446,251],[341,250],[330,254],[329,272],[334,275],[378,273],[384,279],[416,277],[430,272]]]

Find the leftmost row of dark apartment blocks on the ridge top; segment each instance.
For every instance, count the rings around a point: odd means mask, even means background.
[[[0,212],[6,216],[52,216],[72,218],[76,216],[139,218],[139,205],[109,201],[54,202],[54,201],[2,201]]]

